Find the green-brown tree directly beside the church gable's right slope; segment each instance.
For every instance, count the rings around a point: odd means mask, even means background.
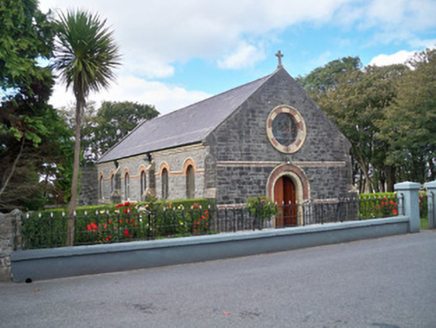
[[[350,140],[359,190],[377,191],[386,183],[391,189],[394,179],[393,167],[387,161],[389,144],[380,137],[378,122],[384,121],[386,108],[396,99],[398,78],[407,67],[361,66],[358,57],[335,60],[300,82]]]

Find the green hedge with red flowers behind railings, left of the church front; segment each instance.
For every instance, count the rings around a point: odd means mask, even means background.
[[[78,207],[75,244],[111,243],[205,234],[206,199]],[[31,212],[23,223],[24,248],[65,246],[68,209]]]

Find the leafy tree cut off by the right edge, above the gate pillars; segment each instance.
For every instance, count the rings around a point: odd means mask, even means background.
[[[409,65],[413,69],[399,79],[395,102],[378,124],[399,177],[425,182],[436,178],[436,49],[416,54]]]

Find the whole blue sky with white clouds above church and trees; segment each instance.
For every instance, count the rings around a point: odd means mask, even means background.
[[[106,19],[122,54],[102,101],[188,106],[272,73],[280,50],[294,77],[328,62],[404,63],[436,47],[436,0],[40,0],[55,15],[86,10]],[[50,102],[74,106],[58,81]]]

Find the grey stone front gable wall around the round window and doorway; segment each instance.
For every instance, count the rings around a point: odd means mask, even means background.
[[[275,149],[267,136],[268,115],[279,105],[296,108],[306,123],[303,146],[292,154]],[[218,203],[244,203],[266,194],[268,177],[283,164],[305,173],[309,198],[337,197],[352,188],[349,141],[285,70],[266,81],[206,143],[216,162]],[[242,164],[229,164],[236,161]]]

